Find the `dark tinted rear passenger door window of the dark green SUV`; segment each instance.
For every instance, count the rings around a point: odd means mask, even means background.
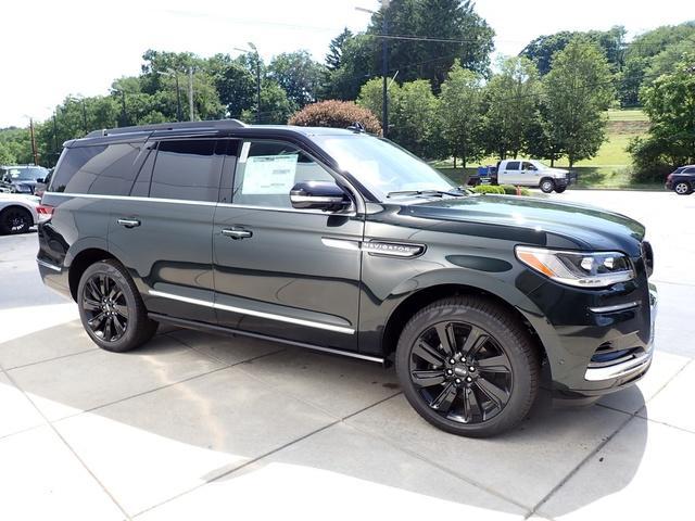
[[[151,198],[217,201],[222,153],[217,140],[188,139],[162,141],[157,148]]]

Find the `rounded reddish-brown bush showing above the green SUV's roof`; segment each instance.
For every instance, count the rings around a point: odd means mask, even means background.
[[[327,100],[312,103],[295,113],[287,123],[301,127],[334,128],[348,128],[355,123],[361,123],[368,132],[381,134],[379,119],[371,111],[352,101]]]

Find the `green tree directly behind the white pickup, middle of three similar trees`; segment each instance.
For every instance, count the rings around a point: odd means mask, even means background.
[[[485,88],[482,123],[485,151],[501,160],[528,149],[539,118],[541,84],[538,69],[527,58],[508,58]]]

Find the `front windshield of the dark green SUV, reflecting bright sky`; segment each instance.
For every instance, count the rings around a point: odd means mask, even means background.
[[[367,135],[314,139],[341,169],[352,174],[381,201],[390,193],[399,196],[393,192],[448,191],[456,187],[422,160],[386,139]]]

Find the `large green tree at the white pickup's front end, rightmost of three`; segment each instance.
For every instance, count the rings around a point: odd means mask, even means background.
[[[585,38],[576,38],[555,54],[543,78],[549,140],[567,155],[570,168],[593,157],[605,140],[603,113],[614,100],[612,74],[605,54]]]

